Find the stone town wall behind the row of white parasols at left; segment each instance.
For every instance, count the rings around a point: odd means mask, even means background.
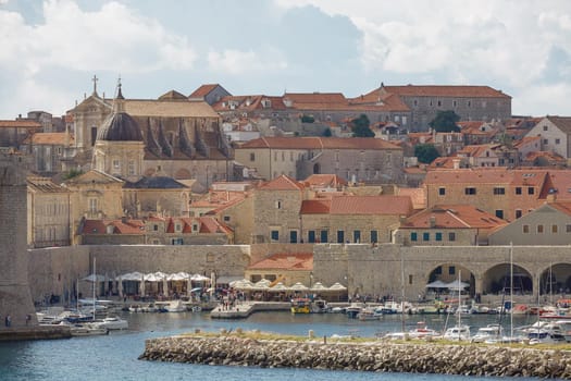
[[[210,276],[244,276],[250,263],[248,245],[98,245],[51,247],[29,250],[30,293],[34,302],[46,303],[51,295],[70,303],[76,291],[90,295],[80,281],[96,272],[113,279],[138,271],[166,273],[186,271]],[[1,312],[0,312],[1,314]]]

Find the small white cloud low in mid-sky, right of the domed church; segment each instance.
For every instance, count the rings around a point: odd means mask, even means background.
[[[266,49],[262,53],[235,49],[226,49],[222,52],[210,51],[208,63],[212,71],[229,74],[260,73],[287,67],[287,62],[274,49]]]

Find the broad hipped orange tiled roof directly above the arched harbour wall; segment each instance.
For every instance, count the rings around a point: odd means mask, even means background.
[[[431,219],[434,225],[431,225]],[[401,229],[495,229],[507,221],[471,205],[437,205],[411,216]]]

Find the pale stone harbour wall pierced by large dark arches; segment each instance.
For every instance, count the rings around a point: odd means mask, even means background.
[[[474,293],[483,294],[492,278],[505,275],[510,257],[513,266],[533,280],[535,298],[536,280],[551,266],[562,265],[568,274],[571,272],[569,246],[514,246],[510,250],[509,246],[318,244],[313,251],[313,275],[324,284],[342,282],[348,286],[349,295],[400,297],[404,284],[406,299],[414,300],[425,293],[431,272],[445,265],[473,275]],[[463,273],[464,278],[470,275]]]

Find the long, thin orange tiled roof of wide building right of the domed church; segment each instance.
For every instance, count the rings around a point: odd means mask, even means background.
[[[272,148],[272,149],[401,149],[384,140],[371,137],[260,137],[252,139],[241,148]]]

